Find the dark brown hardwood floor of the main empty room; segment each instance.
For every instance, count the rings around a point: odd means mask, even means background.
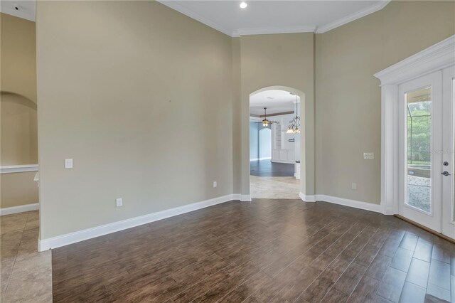
[[[455,245],[323,202],[231,201],[52,254],[54,302],[455,301]]]

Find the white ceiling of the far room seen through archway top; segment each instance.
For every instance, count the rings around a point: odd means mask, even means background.
[[[297,96],[298,102],[300,98]],[[250,97],[250,114],[264,115],[264,107],[267,107],[267,115],[279,112],[292,112],[296,107],[296,95],[291,95],[284,90],[265,90]]]

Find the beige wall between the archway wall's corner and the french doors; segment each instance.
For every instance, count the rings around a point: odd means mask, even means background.
[[[316,35],[317,193],[380,203],[380,82],[373,74],[454,35],[454,5],[392,1]],[[364,151],[375,159],[363,159]]]

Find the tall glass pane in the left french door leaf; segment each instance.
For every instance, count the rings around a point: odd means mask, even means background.
[[[407,205],[432,211],[432,89],[406,93]]]

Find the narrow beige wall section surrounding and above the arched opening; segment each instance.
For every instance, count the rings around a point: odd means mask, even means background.
[[[301,150],[307,166],[301,191],[314,194],[314,34],[289,33],[273,35],[242,36],[240,48],[240,112],[242,122],[240,150],[241,188],[243,194],[250,193],[250,94],[264,87],[291,87],[294,92],[304,92],[305,124]],[[304,159],[302,159],[304,161]]]

